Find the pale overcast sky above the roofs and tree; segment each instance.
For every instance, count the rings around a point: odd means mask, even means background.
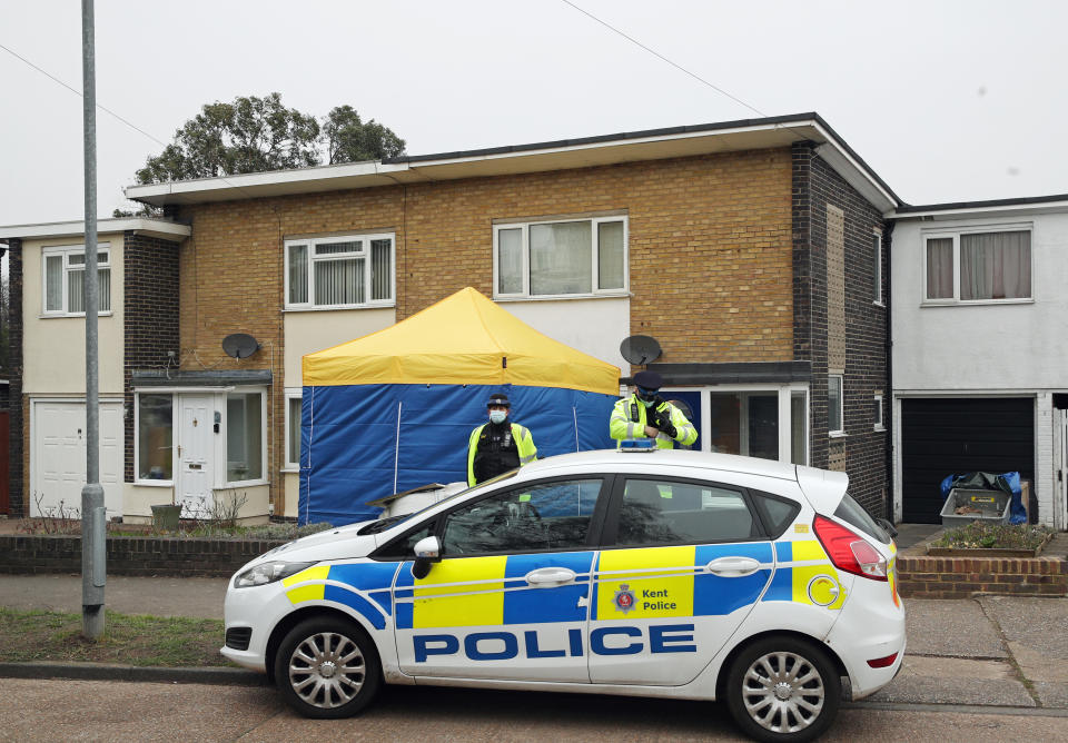
[[[572,0],[911,204],[1068,192],[1068,3]],[[97,0],[101,217],[207,102],[348,103],[411,155],[760,116],[563,0]],[[0,3],[0,225],[83,217],[78,0]],[[8,51],[10,50],[10,52]]]

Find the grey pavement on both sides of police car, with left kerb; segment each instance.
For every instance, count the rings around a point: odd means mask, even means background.
[[[226,578],[108,576],[105,605],[122,614],[221,620],[226,586]],[[81,576],[0,574],[0,606],[80,612]],[[1068,710],[1068,598],[913,598],[906,601],[906,615],[902,671],[866,705]],[[0,664],[0,676],[264,683],[261,674],[238,668],[85,663]]]

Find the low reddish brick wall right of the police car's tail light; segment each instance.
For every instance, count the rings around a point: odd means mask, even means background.
[[[1068,595],[1068,562],[1061,556],[898,556],[898,591],[914,598]]]

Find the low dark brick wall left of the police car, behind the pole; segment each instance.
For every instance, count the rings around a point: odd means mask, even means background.
[[[253,557],[283,542],[108,537],[110,575],[229,577]],[[0,535],[0,573],[79,573],[81,537]]]

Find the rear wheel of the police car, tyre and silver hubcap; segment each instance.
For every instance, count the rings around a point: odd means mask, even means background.
[[[731,663],[725,686],[734,722],[758,741],[801,743],[822,735],[838,714],[842,682],[828,654],[797,637],[768,637]]]

